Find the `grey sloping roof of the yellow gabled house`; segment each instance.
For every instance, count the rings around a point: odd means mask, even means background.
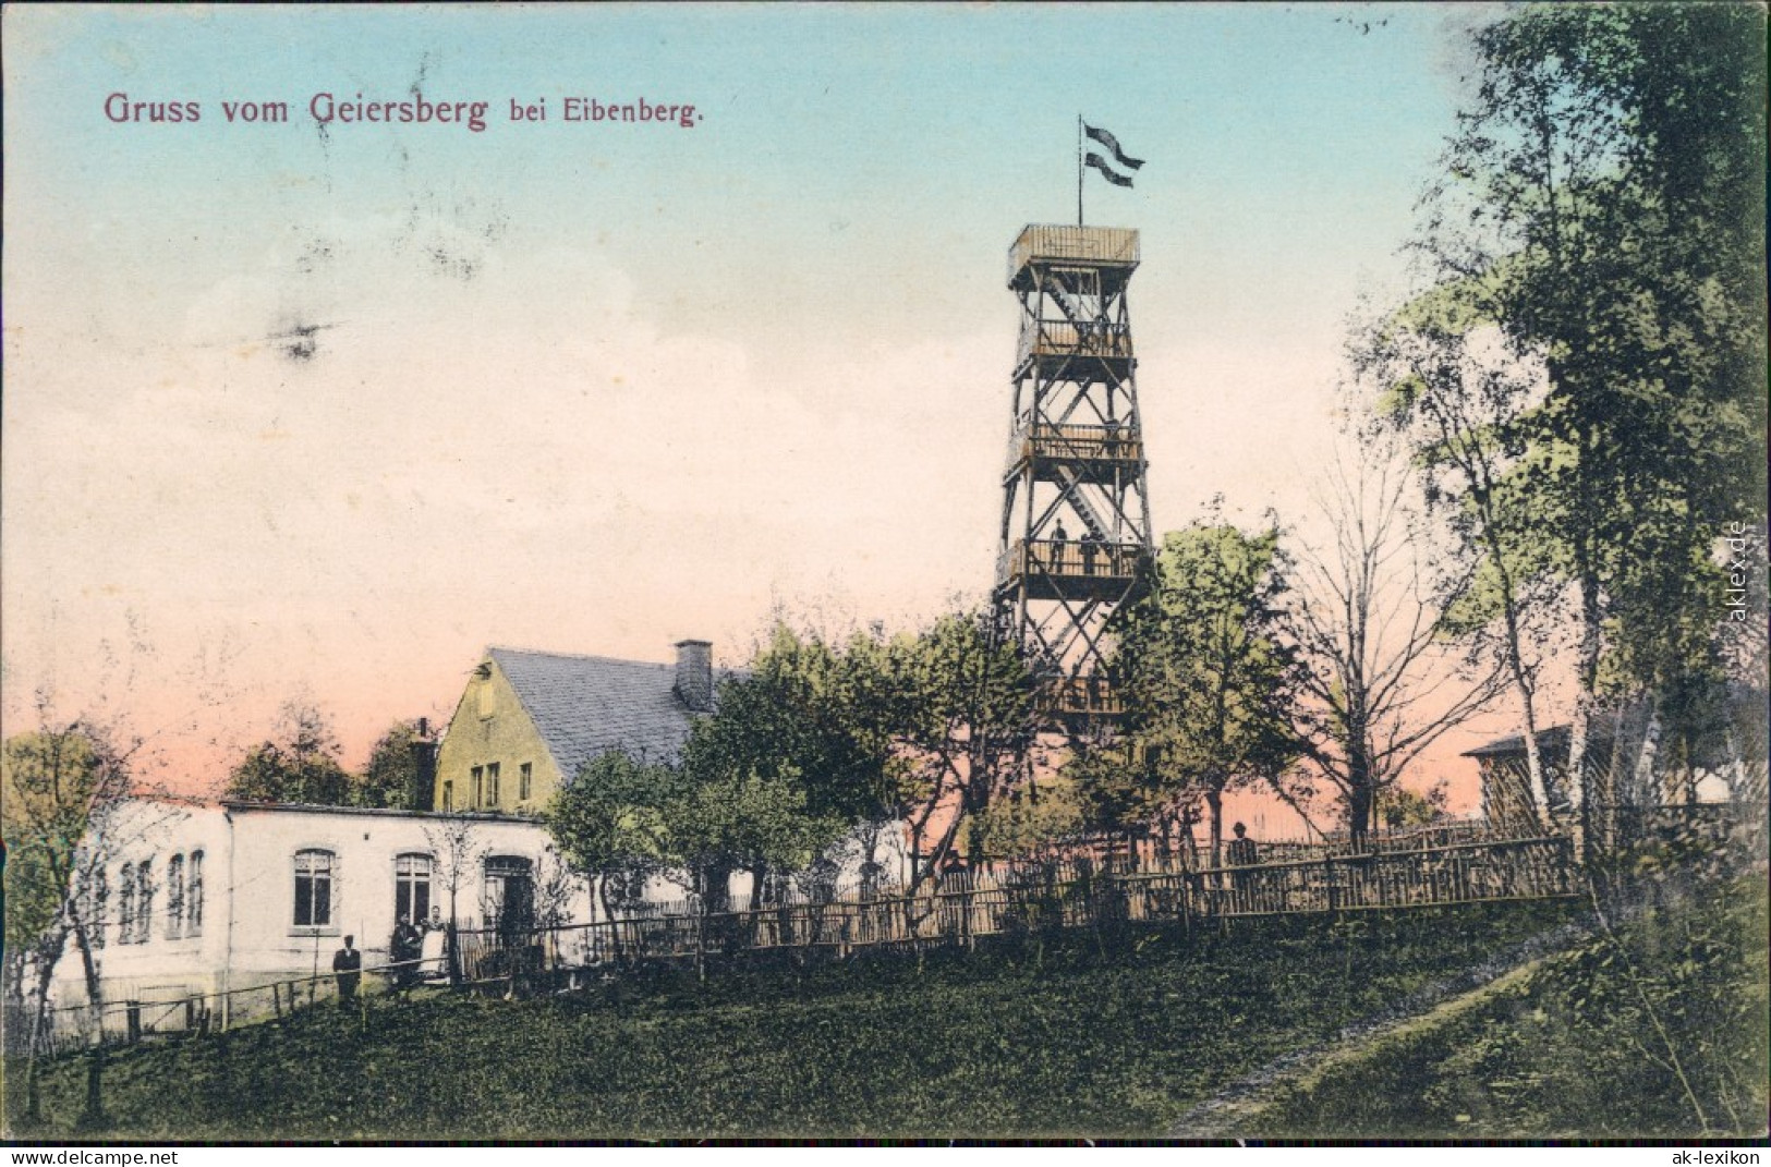
[[[694,714],[677,696],[675,664],[517,648],[491,648],[487,655],[517,691],[567,781],[597,754],[618,749],[671,761],[689,740]],[[715,689],[730,675],[714,669]]]

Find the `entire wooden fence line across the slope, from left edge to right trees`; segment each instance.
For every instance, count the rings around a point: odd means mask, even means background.
[[[739,953],[825,953],[972,946],[985,937],[1119,924],[1195,924],[1261,916],[1392,910],[1551,900],[1578,891],[1574,850],[1564,836],[1318,854],[1243,868],[1188,869],[1126,857],[1050,857],[955,871],[916,896],[838,896],[793,891],[785,903],[700,916],[691,905],[632,919],[453,933],[445,970],[411,962],[418,983],[563,983],[636,962],[703,962]],[[400,965],[363,969],[361,992],[386,992]],[[97,1041],[133,1045],[244,1020],[292,1016],[338,1004],[331,972],[276,979],[225,993],[170,1001],[110,1001],[97,1009]],[[32,1025],[25,1002],[7,999],[0,1020],[7,1052],[35,1032],[39,1054],[90,1048],[94,1011],[53,1008]]]

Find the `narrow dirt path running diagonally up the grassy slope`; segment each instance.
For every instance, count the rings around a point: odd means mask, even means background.
[[[1357,1059],[1376,1041],[1396,1032],[1456,1016],[1530,976],[1544,956],[1567,949],[1589,935],[1592,935],[1592,926],[1582,921],[1546,928],[1458,976],[1433,981],[1381,1013],[1346,1025],[1337,1038],[1275,1057],[1254,1073],[1194,1103],[1169,1130],[1169,1137],[1233,1137],[1284,1087],[1314,1077],[1337,1063]]]

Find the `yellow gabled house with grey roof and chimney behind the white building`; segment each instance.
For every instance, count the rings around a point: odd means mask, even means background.
[[[673,761],[728,675],[696,639],[677,643],[675,664],[489,648],[443,735],[425,809],[535,815],[599,754]]]

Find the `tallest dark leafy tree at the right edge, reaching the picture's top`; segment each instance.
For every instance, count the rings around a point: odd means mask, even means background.
[[[1582,779],[1608,776],[1585,765],[1605,689],[1709,668],[1709,553],[1764,515],[1764,21],[1532,5],[1477,30],[1427,198],[1442,285],[1543,370],[1511,478],[1574,595]]]

